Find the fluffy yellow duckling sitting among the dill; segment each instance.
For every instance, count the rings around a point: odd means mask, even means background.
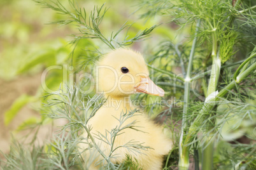
[[[120,115],[136,108],[129,100],[129,95],[142,92],[164,96],[164,90],[156,86],[148,77],[149,72],[143,56],[129,49],[111,51],[97,65],[96,75],[96,88],[99,92],[104,92],[107,101],[89,120],[88,125],[92,128],[90,133],[94,136],[101,151],[104,155],[110,155],[111,149],[117,148],[111,154],[113,158],[110,159],[115,164],[124,162],[127,155],[130,155],[132,160],[138,161],[142,169],[161,169],[164,155],[167,155],[172,148],[172,141],[162,133],[162,127],[150,121],[147,115],[136,113],[127,119],[122,126],[135,121],[134,126],[139,131],[131,128],[124,129],[116,136],[113,148],[108,143],[99,140],[97,136],[99,133],[106,135],[111,132],[111,129],[117,128],[120,125],[118,121]],[[111,140],[110,134],[108,134],[108,140]],[[131,141],[143,143],[143,146],[150,148],[145,150],[133,148],[138,149],[141,152],[139,153],[120,147]],[[87,147],[88,145],[83,145],[83,148]],[[87,160],[93,155],[95,159],[89,169],[99,169],[106,163],[106,161],[101,161],[104,160],[101,154],[95,154],[89,150],[85,152]]]

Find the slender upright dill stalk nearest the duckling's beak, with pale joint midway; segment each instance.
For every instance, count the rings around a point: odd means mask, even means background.
[[[194,53],[196,49],[197,32],[199,30],[199,27],[200,27],[200,20],[197,22],[197,25],[196,25],[196,34],[195,34],[195,38],[193,40],[192,48],[190,51],[187,74],[185,78],[184,105],[183,105],[183,115],[182,115],[182,124],[181,124],[181,134],[180,134],[180,141],[179,141],[179,169],[188,169],[188,166],[189,166],[189,148],[184,146],[183,138],[186,133],[186,128],[188,124],[186,117],[187,117],[187,110],[188,110],[188,103],[189,103],[189,96],[190,96],[191,70],[192,70]]]

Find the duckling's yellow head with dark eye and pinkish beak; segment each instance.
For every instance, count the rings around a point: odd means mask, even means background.
[[[96,67],[97,91],[112,97],[124,97],[136,92],[164,96],[148,77],[142,55],[130,49],[116,49],[103,56]]]

